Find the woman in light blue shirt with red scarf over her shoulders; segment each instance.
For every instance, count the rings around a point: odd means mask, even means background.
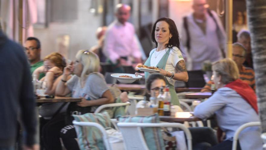
[[[257,98],[252,88],[239,79],[237,65],[232,59],[225,58],[214,62],[212,70],[218,90],[195,108],[194,115],[206,119],[216,114],[218,126],[225,132],[226,137],[211,149],[232,149],[232,139],[237,128],[247,122],[259,121]],[[249,127],[241,132],[241,149],[261,150],[260,133],[259,127]]]

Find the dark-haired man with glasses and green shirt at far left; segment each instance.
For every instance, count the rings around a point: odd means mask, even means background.
[[[28,57],[28,60],[31,65],[31,74],[35,69],[44,65],[44,62],[41,60],[41,42],[38,38],[28,37],[24,43],[24,51]],[[45,76],[44,73],[39,75],[39,79]]]

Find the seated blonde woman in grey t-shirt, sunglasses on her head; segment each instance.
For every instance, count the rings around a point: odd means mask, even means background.
[[[103,75],[98,72],[99,68],[98,56],[87,50],[79,50],[75,62],[64,68],[62,78],[56,88],[56,95],[64,96],[72,93],[73,98],[82,97],[81,102],[70,103],[68,107],[69,116],[94,112],[98,106],[115,101]],[[67,81],[67,77],[72,73],[74,75]],[[60,136],[67,150],[79,149],[75,140],[76,131],[72,125],[72,120],[73,117],[70,117],[67,120],[68,125],[61,126],[62,129],[57,126],[57,131],[54,133],[52,132],[55,130],[53,125],[45,128],[44,132],[47,133],[44,137],[46,149],[62,149]]]

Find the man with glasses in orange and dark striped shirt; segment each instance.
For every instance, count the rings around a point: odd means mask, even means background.
[[[240,43],[234,43],[232,49],[232,59],[235,61],[238,70],[239,77],[244,82],[248,83],[248,85],[255,91],[255,73],[252,68],[245,67],[243,63],[245,62],[246,57],[246,49]],[[212,80],[210,80],[201,90],[201,92],[210,92],[211,84],[214,84]]]

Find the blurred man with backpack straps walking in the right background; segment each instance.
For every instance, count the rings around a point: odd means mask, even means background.
[[[193,13],[183,18],[181,44],[191,58],[189,70],[201,70],[204,61],[215,62],[225,56],[225,31],[218,15],[208,7],[206,0],[193,0]]]

